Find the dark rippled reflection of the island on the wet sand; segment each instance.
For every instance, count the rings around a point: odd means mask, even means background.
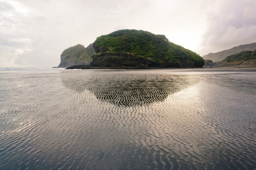
[[[119,106],[161,102],[170,94],[199,82],[194,75],[152,75],[98,73],[82,77],[62,77],[65,87],[77,92],[85,89],[103,102]]]

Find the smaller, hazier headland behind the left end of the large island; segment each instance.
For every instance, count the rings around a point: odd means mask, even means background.
[[[88,65],[92,61],[92,55],[95,54],[93,44],[84,47],[78,44],[65,49],[61,54],[61,63],[58,68],[67,68],[72,65]]]

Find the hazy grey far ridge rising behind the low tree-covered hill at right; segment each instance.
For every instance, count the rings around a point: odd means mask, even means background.
[[[204,59],[211,59],[213,62],[222,61],[227,56],[240,53],[242,51],[254,51],[256,50],[256,42],[251,44],[239,45],[237,47],[230,48],[228,50],[220,51],[217,53],[209,53],[204,55]]]

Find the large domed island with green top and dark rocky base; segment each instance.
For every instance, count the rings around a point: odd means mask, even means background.
[[[91,46],[94,53],[91,55],[92,61],[89,65],[88,62],[84,64],[76,62],[67,69],[199,68],[205,63],[204,59],[195,52],[169,42],[165,35],[143,30],[114,31],[97,37]],[[74,51],[73,54],[79,50],[75,48]],[[83,61],[81,55],[83,51],[78,52],[77,56],[67,55],[69,61],[73,58]],[[62,60],[64,57],[61,58]]]

